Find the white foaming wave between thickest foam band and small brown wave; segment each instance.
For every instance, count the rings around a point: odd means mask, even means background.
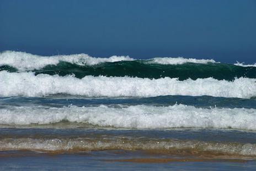
[[[115,128],[234,128],[256,130],[256,109],[155,106],[12,107],[0,109],[0,124],[51,124],[63,120]]]

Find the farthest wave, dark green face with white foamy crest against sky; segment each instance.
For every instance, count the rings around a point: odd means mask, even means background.
[[[241,67],[242,66],[242,67]],[[153,58],[132,59],[125,56],[93,58],[87,54],[43,57],[24,52],[0,53],[0,71],[34,71],[35,74],[76,78],[92,76],[130,76],[138,78],[178,78],[179,80],[212,77],[217,80],[256,78],[256,67],[243,64],[222,64],[212,59]]]

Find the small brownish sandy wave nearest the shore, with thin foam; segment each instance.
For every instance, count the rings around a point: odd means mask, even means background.
[[[255,144],[228,142],[182,141],[173,139],[142,139],[138,137],[62,137],[62,138],[12,138],[1,139],[0,150],[31,151],[99,151],[99,150],[153,150],[165,153],[199,155],[256,156]]]

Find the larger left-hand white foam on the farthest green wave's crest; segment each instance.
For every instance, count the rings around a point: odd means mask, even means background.
[[[111,56],[110,58],[93,58],[88,54],[71,54],[43,57],[25,52],[4,51],[0,53],[0,66],[9,65],[19,71],[44,68],[46,65],[57,65],[59,62],[69,62],[77,65],[95,65],[103,62],[118,62],[134,60],[128,56]]]

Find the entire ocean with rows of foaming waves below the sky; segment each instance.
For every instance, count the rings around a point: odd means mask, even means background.
[[[0,53],[0,170],[255,170],[256,64]]]

